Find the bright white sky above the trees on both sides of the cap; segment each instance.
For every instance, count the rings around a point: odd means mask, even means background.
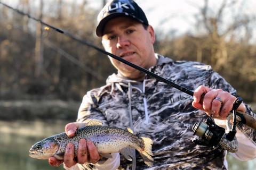
[[[88,1],[94,8],[99,8],[102,5],[102,0]],[[195,15],[199,13],[198,8],[204,5],[204,0],[135,0],[135,2],[146,13],[149,24],[153,25],[156,31],[163,32],[165,35],[172,31],[175,31],[177,35],[195,32]],[[222,2],[223,0],[209,0],[212,15],[217,14]],[[255,0],[227,0],[227,2],[237,3],[224,11],[223,23],[225,24],[233,21],[234,15],[239,16],[243,13],[256,15]],[[256,29],[254,35],[256,35]]]

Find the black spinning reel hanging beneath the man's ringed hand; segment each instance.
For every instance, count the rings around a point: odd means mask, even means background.
[[[233,141],[236,135],[236,109],[243,102],[241,97],[236,98],[233,103],[233,125],[228,133],[225,133],[225,128],[222,128],[215,124],[212,115],[209,116],[205,122],[202,120],[196,122],[192,128],[193,135],[197,135],[197,138],[193,139],[193,142],[197,145],[218,147],[223,136],[227,141]]]

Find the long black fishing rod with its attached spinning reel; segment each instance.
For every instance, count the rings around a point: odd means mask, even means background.
[[[99,52],[101,52],[101,53],[103,53],[103,54],[106,54],[106,55],[108,55],[108,56],[114,58],[115,60],[118,60],[118,61],[120,61],[120,62],[122,62],[122,63],[124,63],[124,64],[126,64],[126,65],[129,65],[129,66],[133,67],[133,68],[136,69],[136,70],[139,70],[139,71],[141,71],[141,72],[144,72],[144,73],[150,75],[151,77],[157,79],[158,81],[164,82],[164,83],[166,83],[166,84],[168,84],[168,85],[170,85],[170,86],[172,86],[172,87],[174,87],[174,88],[176,88],[176,89],[178,89],[178,90],[180,90],[180,91],[182,91],[182,92],[185,92],[186,94],[188,94],[188,95],[190,95],[190,96],[194,96],[194,92],[193,92],[193,91],[191,91],[191,90],[189,90],[189,89],[187,89],[187,88],[185,88],[185,87],[182,87],[182,86],[180,86],[180,85],[178,85],[178,84],[176,84],[176,83],[174,83],[174,82],[172,82],[172,81],[170,81],[170,80],[168,80],[168,79],[165,79],[165,78],[163,78],[163,77],[161,77],[161,76],[159,76],[159,75],[157,75],[157,74],[155,74],[155,73],[153,73],[153,72],[151,72],[151,71],[149,71],[149,70],[147,70],[147,69],[144,69],[143,67],[140,67],[140,66],[138,66],[138,65],[135,65],[135,64],[133,64],[133,63],[130,63],[130,62],[124,60],[124,59],[121,58],[121,57],[118,57],[118,56],[116,56],[116,55],[114,55],[114,54],[111,54],[111,53],[109,53],[109,52],[106,52],[106,50],[95,46],[94,44],[90,43],[90,42],[87,41],[87,40],[84,40],[84,39],[81,39],[81,38],[79,38],[79,37],[77,37],[77,36],[74,36],[74,35],[72,35],[71,33],[69,33],[69,32],[66,31],[66,30],[62,30],[62,29],[59,29],[59,28],[57,28],[57,27],[54,27],[54,26],[52,26],[52,25],[50,25],[50,24],[47,24],[47,23],[43,22],[42,20],[37,19],[37,18],[35,18],[35,17],[33,17],[33,16],[30,16],[28,13],[24,13],[24,12],[22,12],[22,11],[16,9],[16,8],[13,8],[13,7],[11,7],[11,6],[7,5],[7,4],[4,4],[4,3],[2,3],[1,1],[0,1],[0,4],[6,6],[7,8],[10,8],[10,9],[13,10],[13,11],[18,12],[18,13],[21,14],[21,15],[25,15],[25,16],[27,16],[28,18],[30,18],[30,19],[32,19],[32,20],[35,20],[35,21],[37,21],[37,22],[40,22],[41,24],[43,24],[43,25],[46,26],[46,27],[45,27],[45,30],[49,30],[50,28],[52,28],[53,30],[55,30],[55,31],[57,31],[57,32],[59,32],[59,33],[61,33],[61,34],[63,34],[63,35],[66,35],[67,37],[69,37],[69,38],[71,38],[71,39],[73,39],[73,40],[75,40],[75,41],[78,41],[78,42],[81,43],[81,44],[84,44],[84,45],[87,45],[87,46],[89,46],[89,47],[92,47],[92,48],[98,50]],[[203,97],[202,97],[202,98],[203,98]],[[253,128],[253,129],[256,129],[256,119],[255,119],[254,117],[236,111],[236,109],[237,109],[238,106],[242,103],[242,101],[243,101],[243,100],[242,100],[241,98],[237,98],[237,99],[235,100],[235,103],[233,104],[233,109],[232,109],[232,111],[233,111],[233,117],[235,117],[235,118],[233,119],[233,124],[236,125],[236,121],[239,121],[239,122],[241,122],[241,123],[243,123],[243,124],[246,124],[247,126],[250,126],[250,127]],[[237,118],[236,118],[236,116],[237,116]],[[221,128],[221,127],[219,127],[219,128]],[[213,142],[214,145],[212,145],[212,146],[215,146],[215,143],[216,143],[215,141],[218,141],[218,142],[219,142],[220,139],[222,138],[223,133],[225,133],[225,131],[223,131],[223,129],[220,130],[219,128],[217,127],[217,125],[215,125],[214,121],[212,120],[212,116],[210,116],[209,118],[207,118],[207,120],[205,121],[205,123],[204,123],[204,122],[197,122],[197,123],[193,126],[193,132],[194,132],[194,134],[196,134],[198,137],[201,137],[201,138],[202,138],[202,139],[201,139],[202,141],[199,141],[199,145],[204,145],[204,144],[205,144],[205,145],[209,145],[209,142],[210,142],[210,144],[211,144],[211,142],[214,141],[214,142]],[[210,132],[212,132],[212,133],[210,134]],[[209,134],[206,134],[206,133],[209,133]],[[235,131],[235,126],[233,126],[232,129],[230,130],[230,133],[228,133],[228,135],[230,136],[230,137],[229,137],[230,140],[233,140],[233,139],[234,139],[235,133],[236,133],[236,131]],[[212,135],[212,136],[211,136],[211,139],[210,139],[211,141],[210,141],[208,138],[203,139],[203,137],[204,137],[205,135],[206,135],[206,137],[207,137],[207,135]],[[212,138],[212,137],[213,137],[213,138]],[[209,140],[209,141],[207,141],[207,140]],[[201,142],[201,143],[200,143],[200,142]]]

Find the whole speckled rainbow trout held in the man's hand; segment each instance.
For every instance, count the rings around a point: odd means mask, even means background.
[[[36,159],[49,159],[55,157],[63,159],[66,146],[69,142],[75,146],[75,157],[80,139],[90,140],[97,147],[103,157],[111,153],[120,152],[127,160],[132,160],[135,149],[148,166],[153,166],[154,159],[151,157],[153,141],[150,138],[138,137],[132,130],[102,126],[102,122],[89,122],[84,128],[78,129],[73,138],[69,138],[65,132],[45,138],[33,145],[29,150],[29,156]],[[134,152],[133,152],[134,151]],[[133,163],[134,165],[134,163]],[[135,167],[133,167],[135,168]]]

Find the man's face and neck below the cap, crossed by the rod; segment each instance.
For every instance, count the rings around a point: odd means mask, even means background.
[[[127,17],[110,20],[102,36],[102,45],[107,52],[145,69],[156,64],[154,42],[154,30],[150,25],[146,30],[141,23]],[[140,80],[145,75],[114,58],[110,57],[110,61],[124,77]]]

